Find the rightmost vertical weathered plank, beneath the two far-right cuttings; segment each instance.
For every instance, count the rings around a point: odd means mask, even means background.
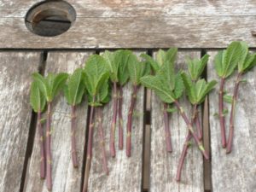
[[[216,51],[209,51],[211,61],[208,65],[208,79],[218,79],[213,67],[213,58]],[[231,154],[225,154],[221,147],[220,128],[218,118],[213,114],[218,112],[218,87],[209,96],[209,115],[211,129],[212,148],[212,191],[255,191],[256,184],[256,130],[255,90],[256,70],[247,73],[244,78],[248,79],[246,84],[241,84],[239,99],[236,107],[235,134]],[[230,78],[225,84],[225,89],[233,93],[235,77]],[[225,108],[230,105],[225,103]],[[229,133],[229,118],[226,117],[226,135]]]

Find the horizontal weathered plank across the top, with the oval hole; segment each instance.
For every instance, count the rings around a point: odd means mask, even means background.
[[[69,0],[77,20],[68,32],[52,38],[26,29],[24,16],[38,2],[0,1],[0,48],[221,48],[233,40],[256,47],[253,0]]]

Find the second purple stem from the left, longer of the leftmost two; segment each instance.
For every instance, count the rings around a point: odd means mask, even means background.
[[[47,189],[52,189],[52,178],[51,178],[51,164],[52,164],[52,157],[51,157],[51,149],[50,149],[50,124],[51,124],[51,102],[48,102],[47,106],[47,122],[46,122],[46,184]]]

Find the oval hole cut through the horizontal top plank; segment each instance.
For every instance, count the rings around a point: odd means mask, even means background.
[[[29,31],[44,37],[61,35],[73,25],[76,11],[65,1],[44,1],[37,3],[26,14]]]

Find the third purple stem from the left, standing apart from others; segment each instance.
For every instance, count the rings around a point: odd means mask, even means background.
[[[76,149],[76,107],[71,107],[71,154],[72,154],[72,161],[73,167],[78,167],[78,156],[77,156],[77,149]]]

